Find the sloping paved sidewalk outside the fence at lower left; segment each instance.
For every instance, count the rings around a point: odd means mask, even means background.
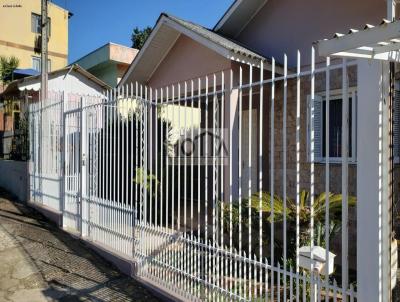
[[[0,189],[0,301],[158,301]]]

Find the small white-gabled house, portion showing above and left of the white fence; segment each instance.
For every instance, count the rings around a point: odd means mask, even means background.
[[[67,101],[65,109],[79,106],[81,96],[103,97],[103,91],[110,87],[95,76],[79,67],[72,65],[49,73],[49,102]],[[16,136],[21,132],[27,121],[27,106],[39,102],[40,75],[25,77],[11,82],[0,94],[0,156],[15,157],[13,154],[27,152],[18,148]],[[46,104],[44,104],[46,106]],[[57,116],[54,119],[58,119]],[[23,143],[23,142],[21,142]],[[26,157],[26,154],[20,154]],[[23,158],[22,158],[23,159]]]

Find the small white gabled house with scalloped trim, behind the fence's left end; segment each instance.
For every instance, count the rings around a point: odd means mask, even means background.
[[[0,94],[3,108],[0,108],[0,154],[2,158],[14,160],[29,160],[28,139],[34,139],[33,133],[30,133],[29,122],[32,123],[34,114],[29,116],[30,112],[39,109],[40,104],[40,76],[26,77],[11,82],[6,90]],[[56,144],[55,137],[61,131],[60,115],[56,112],[62,112],[71,108],[80,106],[82,99],[85,102],[100,102],[104,97],[103,92],[110,87],[92,74],[79,67],[72,65],[68,68],[55,70],[49,73],[49,99],[41,104],[43,108],[54,107],[47,116],[48,123],[42,125],[41,135],[47,139],[47,143]],[[64,107],[61,107],[61,103]],[[9,108],[7,108],[7,107]],[[36,121],[37,122],[37,121]],[[27,137],[27,135],[30,137]],[[36,138],[37,139],[37,138]],[[31,150],[32,151],[32,150]],[[59,154],[61,150],[56,147],[52,148],[52,152]],[[44,158],[47,158],[44,156]],[[59,173],[59,163],[57,156],[49,160],[49,171],[43,171],[44,174],[50,175],[50,172]],[[31,185],[37,185],[38,179],[31,179]],[[36,181],[36,182],[35,182]],[[59,179],[51,177],[40,180],[46,185],[50,194],[43,197],[44,202],[51,203],[59,196]],[[34,194],[34,192],[31,192]],[[29,195],[28,195],[29,196]]]

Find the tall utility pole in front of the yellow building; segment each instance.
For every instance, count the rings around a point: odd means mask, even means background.
[[[47,1],[42,0],[42,58],[41,58],[41,102],[47,99],[48,93],[48,75],[47,75],[47,57],[48,57],[48,29],[49,18],[47,17]]]

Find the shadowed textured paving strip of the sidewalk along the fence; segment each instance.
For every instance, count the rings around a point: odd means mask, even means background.
[[[57,301],[158,301],[140,283],[18,203],[0,189],[0,228],[48,285],[43,294]],[[27,297],[28,298],[28,297]]]

